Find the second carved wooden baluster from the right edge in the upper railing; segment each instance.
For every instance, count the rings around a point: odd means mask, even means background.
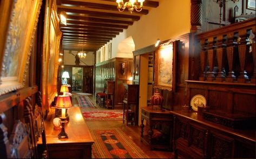
[[[247,72],[245,70],[245,59],[246,59],[246,41],[247,41],[246,30],[242,30],[239,32],[238,38],[238,55],[240,61],[240,73],[238,77],[238,82],[244,83],[249,80]]]

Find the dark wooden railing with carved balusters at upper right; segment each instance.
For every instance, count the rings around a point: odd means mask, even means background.
[[[197,35],[200,81],[255,83],[255,18]]]

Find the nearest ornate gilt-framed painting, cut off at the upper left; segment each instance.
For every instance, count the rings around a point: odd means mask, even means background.
[[[0,95],[24,87],[32,45],[34,42],[38,16],[42,0],[17,0],[11,5],[10,17],[3,24],[8,24],[1,49]],[[4,1],[3,1],[4,3]],[[24,19],[24,20],[21,20]],[[1,20],[2,23],[2,20]]]

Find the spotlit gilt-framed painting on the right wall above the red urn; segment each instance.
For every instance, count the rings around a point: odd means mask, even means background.
[[[174,91],[175,58],[174,43],[172,41],[161,44],[157,49],[154,88]]]

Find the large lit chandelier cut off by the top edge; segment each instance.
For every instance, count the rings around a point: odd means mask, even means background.
[[[118,4],[117,9],[120,12],[124,11],[124,9],[126,8],[128,8],[130,13],[132,13],[134,10],[136,10],[137,12],[140,12],[142,11],[144,1],[145,0],[129,0],[129,2],[123,3],[123,0],[116,0],[116,3]],[[140,5],[138,5],[138,2],[140,3]]]

